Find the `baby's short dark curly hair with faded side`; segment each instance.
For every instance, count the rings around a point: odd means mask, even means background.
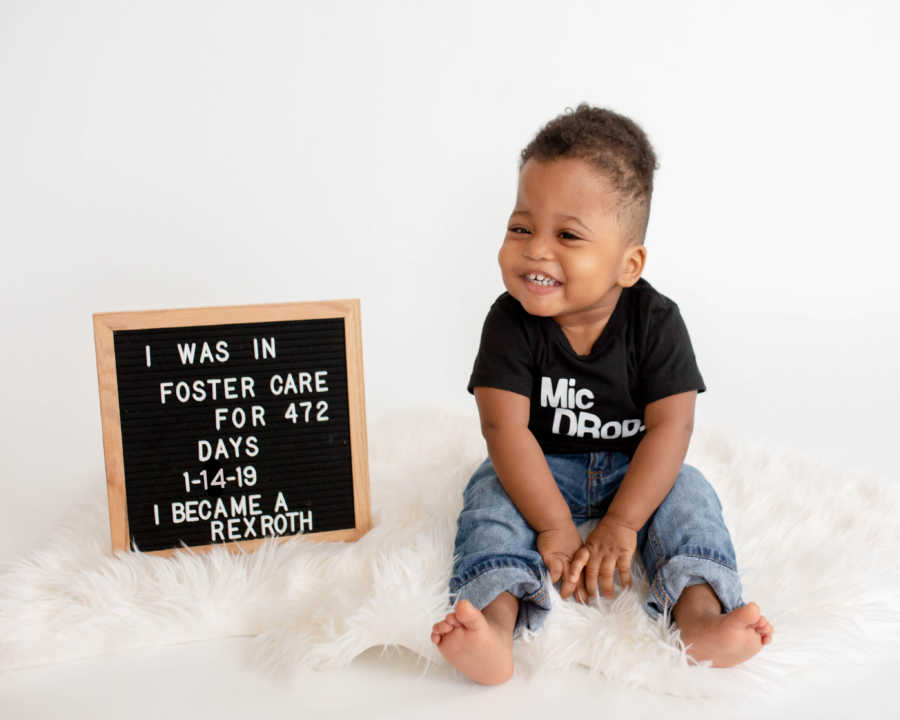
[[[618,218],[629,242],[644,243],[653,195],[656,153],[633,120],[581,103],[567,107],[522,150],[519,170],[530,158],[578,158],[609,178],[619,194]]]

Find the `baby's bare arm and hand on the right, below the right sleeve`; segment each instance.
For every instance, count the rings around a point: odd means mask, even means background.
[[[619,570],[622,585],[631,584],[631,558],[637,532],[660,506],[675,484],[687,453],[694,426],[697,392],[670,395],[648,403],[644,409],[647,432],[616,491],[609,510],[585,541],[585,549],[573,559],[569,581],[584,568],[582,576],[591,595],[597,580],[603,594],[615,594],[613,575]]]

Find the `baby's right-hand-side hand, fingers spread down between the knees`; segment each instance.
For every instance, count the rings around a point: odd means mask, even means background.
[[[637,532],[605,516],[595,527],[584,546],[575,553],[569,568],[568,579],[577,578],[582,569],[585,583],[591,596],[597,594],[597,578],[603,587],[603,594],[615,595],[613,575],[619,570],[622,587],[631,587],[631,558],[637,548]]]

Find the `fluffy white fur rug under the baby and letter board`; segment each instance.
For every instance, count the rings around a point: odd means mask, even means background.
[[[425,672],[446,666],[429,636],[450,609],[462,489],[485,455],[477,416],[411,411],[370,423],[369,444],[374,528],[356,543],[113,556],[97,478],[43,548],[3,568],[0,669],[234,635],[256,638],[261,672],[341,667],[379,645],[417,653]],[[719,493],[744,600],[772,621],[774,642],[736,668],[690,665],[677,629],[641,609],[647,583],[636,562],[632,589],[599,605],[563,601],[554,588],[543,629],[516,642],[517,675],[580,665],[654,692],[733,696],[862,662],[900,638],[896,478],[820,467],[704,428],[687,460]]]

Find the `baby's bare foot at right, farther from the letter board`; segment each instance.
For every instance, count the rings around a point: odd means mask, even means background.
[[[775,629],[748,603],[727,615],[682,613],[678,619],[681,639],[694,660],[712,660],[713,667],[733,667],[753,657],[772,642]]]

